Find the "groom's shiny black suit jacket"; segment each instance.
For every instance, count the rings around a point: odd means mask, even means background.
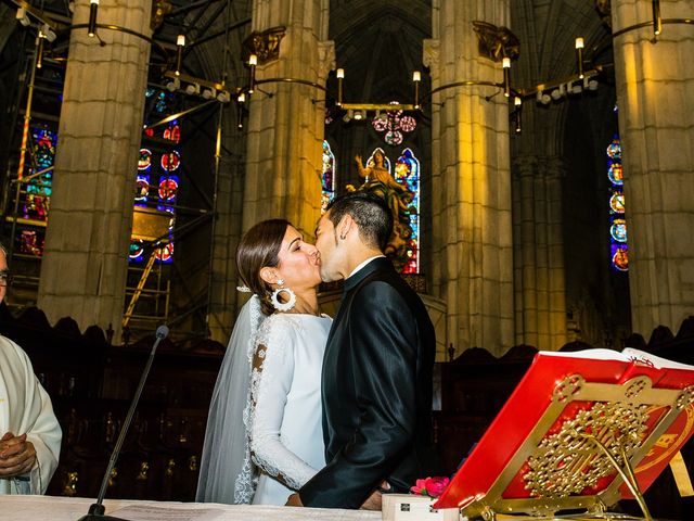
[[[385,257],[345,281],[322,377],[326,467],[305,506],[359,508],[383,480],[406,492],[430,463],[434,327]]]

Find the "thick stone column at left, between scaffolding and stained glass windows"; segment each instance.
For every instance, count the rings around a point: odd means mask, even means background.
[[[150,0],[99,5],[100,24],[147,37],[150,17]],[[77,1],[73,23],[88,20],[89,0]],[[51,321],[112,326],[119,339],[150,43],[98,34],[103,46],[86,28],[70,34],[38,306]]]

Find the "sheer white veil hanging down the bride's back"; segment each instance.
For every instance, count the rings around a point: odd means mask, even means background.
[[[250,461],[244,409],[255,336],[264,318],[256,295],[236,318],[209,404],[196,501],[245,504],[253,500],[257,471]]]

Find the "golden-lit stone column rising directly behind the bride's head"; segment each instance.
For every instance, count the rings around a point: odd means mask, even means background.
[[[286,27],[279,59],[256,78],[294,78],[324,86],[334,67],[327,41],[329,0],[255,0],[253,30]],[[325,92],[303,84],[261,84],[249,103],[243,229],[282,217],[312,236],[321,208]],[[269,93],[269,94],[268,94]]]

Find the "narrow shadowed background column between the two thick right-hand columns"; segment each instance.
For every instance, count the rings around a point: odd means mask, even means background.
[[[558,350],[566,343],[562,163],[522,156],[514,167],[515,343]]]

